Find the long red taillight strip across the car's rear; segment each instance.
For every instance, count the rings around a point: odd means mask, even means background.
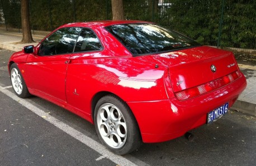
[[[189,89],[179,91],[175,93],[178,100],[189,99],[198,95],[205,94],[206,92],[210,92],[216,89],[219,89],[222,86],[229,84],[230,82],[235,81],[241,76],[240,71],[232,72],[229,75],[221,77],[220,79],[216,79],[211,82],[207,82],[206,84],[191,87]]]

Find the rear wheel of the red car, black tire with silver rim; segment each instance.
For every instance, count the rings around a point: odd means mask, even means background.
[[[105,108],[110,110],[109,115],[107,115],[107,111]],[[112,110],[112,114],[111,114],[111,110]],[[118,116],[118,118],[116,117],[111,118],[111,115],[112,117]],[[101,116],[105,116],[108,118],[106,118],[106,120],[102,120]],[[115,118],[120,120],[116,120]],[[110,123],[109,120],[112,120],[113,124]],[[100,124],[100,123],[104,123],[104,124]],[[99,101],[96,104],[96,108],[94,110],[94,124],[95,124],[97,134],[99,136],[99,139],[101,139],[102,143],[106,145],[106,147],[115,154],[124,155],[124,154],[130,153],[138,149],[142,143],[139,127],[134,115],[132,114],[127,104],[124,101],[122,101],[120,98],[116,97],[115,95],[107,95],[99,99]],[[122,124],[126,124],[126,125],[123,126]],[[112,131],[114,134],[110,134],[109,136],[103,135],[105,133],[111,133]],[[124,134],[126,136],[122,138],[122,136],[118,135],[118,133],[120,133],[120,135]],[[117,138],[114,139],[116,137],[115,134],[120,136],[119,138],[124,139],[122,140],[124,142],[121,141],[121,144],[119,145],[119,147],[118,146],[113,147],[113,144],[115,144],[113,141],[116,140],[118,142]],[[112,138],[113,144],[110,143],[111,138]]]

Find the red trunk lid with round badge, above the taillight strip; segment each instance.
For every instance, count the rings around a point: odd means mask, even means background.
[[[238,70],[232,52],[208,46],[145,57],[169,68],[174,92],[205,84]]]

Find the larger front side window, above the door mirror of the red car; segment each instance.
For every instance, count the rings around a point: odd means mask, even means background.
[[[79,27],[70,27],[61,28],[54,32],[41,43],[38,55],[48,56],[72,53],[81,29]]]

